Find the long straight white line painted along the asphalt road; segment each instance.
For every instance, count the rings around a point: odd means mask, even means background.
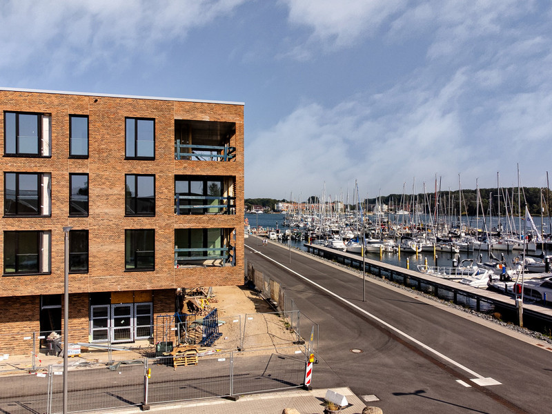
[[[254,253],[259,253],[259,255],[262,255],[263,257],[266,257],[266,259],[270,260],[270,262],[274,262],[278,266],[281,266],[282,268],[288,270],[288,272],[291,272],[294,275],[297,275],[297,277],[300,277],[301,279],[304,279],[306,282],[308,282],[310,284],[313,284],[314,286],[316,286],[317,288],[319,288],[321,290],[324,290],[324,292],[328,293],[328,295],[331,295],[331,296],[335,297],[336,299],[344,302],[348,306],[351,306],[351,308],[355,308],[357,311],[359,311],[361,313],[364,313],[364,315],[370,317],[371,319],[373,319],[376,322],[382,324],[383,326],[386,326],[387,328],[389,328],[390,331],[393,331],[393,332],[397,333],[398,335],[408,339],[408,341],[413,342],[414,344],[417,344],[418,346],[424,348],[429,353],[433,353],[433,355],[436,355],[437,357],[440,357],[441,359],[444,359],[446,362],[449,362],[449,364],[452,364],[453,366],[456,366],[457,368],[460,368],[462,371],[464,371],[466,373],[469,373],[470,375],[473,375],[475,377],[475,380],[472,380],[472,381],[475,382],[475,384],[478,384],[480,386],[500,384],[500,382],[497,382],[496,380],[493,380],[493,378],[484,377],[483,375],[480,375],[480,374],[476,373],[475,371],[472,371],[467,366],[464,366],[464,365],[460,364],[460,362],[456,362],[454,359],[451,359],[451,358],[447,357],[446,355],[440,353],[439,351],[431,348],[431,346],[428,346],[428,345],[424,344],[423,342],[418,341],[414,337],[411,337],[407,333],[404,333],[403,331],[400,331],[400,329],[395,328],[395,326],[393,326],[391,324],[388,324],[383,319],[380,319],[379,317],[369,313],[368,311],[364,311],[364,309],[362,309],[359,306],[353,304],[352,302],[349,302],[344,297],[341,297],[341,296],[337,295],[336,293],[333,293],[331,290],[329,290],[327,288],[324,288],[324,286],[321,286],[321,285],[317,284],[316,282],[313,282],[311,279],[308,279],[307,277],[304,277],[303,275],[297,273],[295,270],[290,269],[287,266],[284,266],[283,264],[281,264],[279,262],[276,262],[275,259],[273,259],[272,257],[268,257],[267,255],[264,255],[263,253],[261,253],[259,250],[255,250],[254,248],[252,248],[250,246],[246,246],[246,247],[250,248],[250,250],[252,250]]]

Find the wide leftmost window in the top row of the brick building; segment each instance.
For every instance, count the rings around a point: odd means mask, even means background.
[[[50,157],[50,115],[4,112],[4,154]]]

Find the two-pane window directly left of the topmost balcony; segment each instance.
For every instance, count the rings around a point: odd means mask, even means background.
[[[155,121],[153,119],[125,119],[125,157],[155,158]]]

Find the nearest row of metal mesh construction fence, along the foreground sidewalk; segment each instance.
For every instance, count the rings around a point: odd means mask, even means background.
[[[176,361],[174,355],[164,355],[70,366],[67,411],[116,410],[299,387],[304,384],[306,348],[196,353],[184,366]],[[62,412],[63,365],[51,364],[32,374],[3,371],[0,377],[1,413]]]

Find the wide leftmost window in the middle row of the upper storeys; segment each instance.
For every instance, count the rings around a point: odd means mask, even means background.
[[[49,216],[51,181],[46,172],[5,172],[4,215]]]

